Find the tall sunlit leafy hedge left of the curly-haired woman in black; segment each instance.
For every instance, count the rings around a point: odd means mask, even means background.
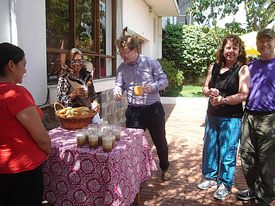
[[[218,33],[224,38],[223,30],[218,28]],[[162,38],[162,57],[174,61],[175,68],[183,71],[185,80],[193,83],[206,76],[208,66],[215,62],[219,45],[214,29],[168,24]]]

